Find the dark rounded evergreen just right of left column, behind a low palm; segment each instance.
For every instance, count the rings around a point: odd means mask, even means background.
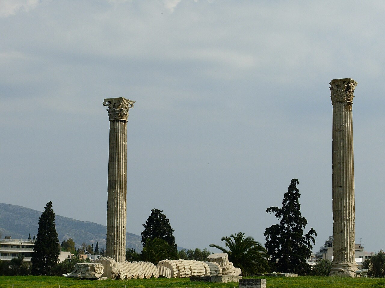
[[[174,247],[175,252],[177,251],[175,244],[175,238],[172,232],[174,229],[171,228],[170,221],[163,214],[163,211],[158,209],[152,209],[151,215],[148,217],[146,224],[143,224],[144,231],[142,232],[142,244],[146,246],[147,239],[160,238],[165,240],[170,247]]]

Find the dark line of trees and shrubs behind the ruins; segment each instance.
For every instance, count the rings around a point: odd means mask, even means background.
[[[269,271],[299,275],[328,275],[331,268],[330,261],[319,261],[313,270],[306,263],[306,258],[310,258],[317,234],[313,228],[310,228],[304,235],[303,230],[308,222],[300,212],[298,184],[298,179],[291,180],[288,191],[283,195],[281,208],[273,206],[266,209],[266,213],[275,214],[280,222],[265,229],[265,247],[242,232],[222,237],[221,242],[224,243],[224,247],[215,244],[209,247],[228,253],[229,261],[241,268],[243,276]],[[173,236],[174,229],[171,228],[169,219],[162,210],[152,209],[151,215],[143,226],[144,231],[141,233],[143,249],[140,253],[127,249],[127,261],[148,261],[154,264],[164,259],[205,261],[211,254],[207,248],[178,251]],[[39,231],[33,247],[31,263],[23,262],[20,257],[6,264],[0,261],[0,275],[6,275],[4,271],[7,271],[8,275],[26,273],[61,275],[70,271],[75,262],[82,262],[79,259],[72,259],[58,264],[60,249],[73,254],[98,253],[99,244],[96,243],[94,248],[93,244],[82,243],[76,250],[74,241],[69,238],[59,245],[55,229],[55,213],[52,210],[52,202],[48,202],[39,218]],[[369,276],[385,276],[385,254],[378,253],[365,261],[363,266],[369,270]]]

